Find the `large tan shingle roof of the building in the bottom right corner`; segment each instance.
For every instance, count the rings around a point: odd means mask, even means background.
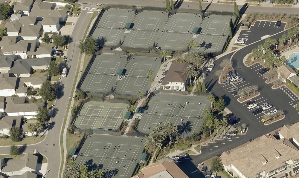
[[[285,165],[285,161],[299,159],[299,150],[286,139],[263,135],[259,140],[221,155],[225,166],[234,165],[245,177],[254,178],[260,172],[270,172]],[[265,164],[264,164],[265,163]]]

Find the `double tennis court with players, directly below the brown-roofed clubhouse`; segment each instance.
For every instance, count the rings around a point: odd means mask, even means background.
[[[149,108],[142,114],[138,130],[150,133],[155,125],[163,125],[170,121],[178,128],[191,128],[192,134],[202,128],[202,112],[210,108],[210,102],[204,96],[179,96],[175,94],[158,93],[148,104]]]

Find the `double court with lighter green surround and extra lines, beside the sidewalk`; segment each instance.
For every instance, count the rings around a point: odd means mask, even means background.
[[[126,111],[126,104],[89,101],[80,108],[74,125],[77,128],[116,130]]]

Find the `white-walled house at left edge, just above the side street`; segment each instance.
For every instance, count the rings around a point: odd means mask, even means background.
[[[22,116],[4,116],[0,119],[0,136],[10,136],[12,127],[21,128]]]

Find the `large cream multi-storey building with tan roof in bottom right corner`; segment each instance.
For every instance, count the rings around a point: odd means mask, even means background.
[[[221,160],[232,177],[284,178],[299,169],[299,150],[286,138],[277,140],[273,135],[263,135],[224,152]]]

